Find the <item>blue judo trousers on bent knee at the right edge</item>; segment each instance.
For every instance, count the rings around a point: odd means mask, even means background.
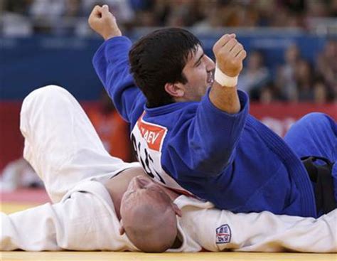
[[[323,156],[333,164],[334,196],[337,201],[337,124],[328,115],[314,112],[306,114],[291,126],[284,141],[301,158]]]

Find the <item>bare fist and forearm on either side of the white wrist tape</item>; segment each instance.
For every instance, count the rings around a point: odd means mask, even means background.
[[[242,61],[246,51],[241,43],[237,42],[234,34],[225,34],[213,46],[213,53],[217,61],[218,70],[229,77],[237,77],[242,70]],[[240,100],[237,87],[223,86],[215,80],[210,90],[210,102],[220,110],[235,114],[240,112]]]

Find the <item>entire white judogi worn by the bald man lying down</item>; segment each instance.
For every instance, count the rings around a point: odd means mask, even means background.
[[[126,235],[105,186],[100,183],[139,164],[109,156],[77,101],[60,87],[28,95],[21,110],[25,158],[46,184],[54,204],[11,215],[1,213],[1,250],[137,251]],[[276,252],[337,252],[337,211],[314,218],[272,213],[234,214],[180,196],[180,248]]]

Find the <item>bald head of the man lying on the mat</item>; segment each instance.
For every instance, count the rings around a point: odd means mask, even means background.
[[[171,208],[144,201],[126,212],[121,213],[125,233],[139,250],[164,252],[173,245],[178,229]]]

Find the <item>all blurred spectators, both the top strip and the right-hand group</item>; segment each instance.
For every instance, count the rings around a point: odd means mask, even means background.
[[[33,33],[88,36],[87,16],[96,4],[108,4],[124,33],[142,26],[188,26],[193,32],[222,27],[282,27],[309,30],[311,21],[333,21],[337,0],[0,0],[5,35]],[[327,20],[325,20],[327,21]],[[327,23],[327,22],[326,22]],[[327,41],[314,62],[296,45],[284,52],[284,64],[267,68],[263,52],[248,53],[239,86],[252,100],[336,102],[337,43]]]

